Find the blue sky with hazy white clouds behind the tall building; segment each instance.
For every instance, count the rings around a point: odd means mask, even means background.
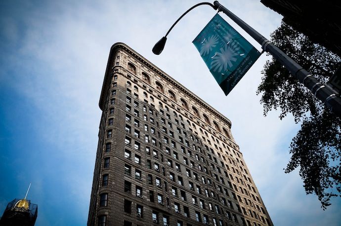
[[[109,50],[125,42],[232,121],[232,133],[275,225],[341,221],[341,200],[326,211],[305,195],[298,172],[285,174],[288,147],[299,126],[292,117],[262,114],[256,96],[263,54],[227,96],[192,40],[215,12],[199,1],[0,1],[0,213],[16,197],[38,204],[36,226],[86,224],[98,125],[98,100]],[[220,3],[268,37],[281,16],[254,0]],[[157,9],[157,10],[155,10]],[[259,44],[230,22],[260,50]],[[208,92],[209,91],[209,92]]]

